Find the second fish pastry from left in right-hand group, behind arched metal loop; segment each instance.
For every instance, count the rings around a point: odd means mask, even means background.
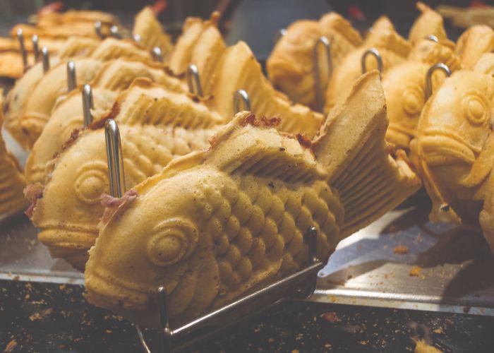
[[[333,70],[325,92],[325,112],[332,109],[338,96],[345,97],[348,94],[351,83],[362,73],[362,56],[371,48],[378,50],[382,58],[382,69],[386,72],[406,60],[411,46],[395,30],[378,27],[370,31],[363,44],[347,54]],[[374,56],[368,55],[366,69],[369,71],[374,68],[378,68],[378,63]]]

